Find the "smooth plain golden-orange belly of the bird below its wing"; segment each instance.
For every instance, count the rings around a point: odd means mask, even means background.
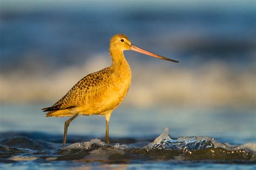
[[[93,93],[86,104],[80,107],[86,115],[104,115],[106,111],[114,110],[124,100],[131,80],[119,80],[113,81],[110,84],[99,87],[98,90]]]

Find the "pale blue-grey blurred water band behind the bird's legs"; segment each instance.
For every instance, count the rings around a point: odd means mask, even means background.
[[[125,101],[124,101],[125,102]],[[0,105],[1,132],[46,132],[62,138],[66,117],[45,117],[41,108],[50,104]],[[156,138],[165,127],[171,137],[211,136],[232,144],[256,141],[254,108],[126,108],[120,105],[110,119],[113,138]],[[104,116],[79,116],[69,126],[72,134],[92,138],[104,137]],[[70,143],[75,141],[69,138]],[[87,140],[90,138],[86,138]],[[118,142],[118,141],[117,141]]]

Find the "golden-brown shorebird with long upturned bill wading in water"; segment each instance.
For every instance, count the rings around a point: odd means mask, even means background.
[[[124,51],[132,50],[155,58],[179,62],[146,51],[131,43],[124,34],[116,34],[110,39],[109,52],[112,65],[98,72],[86,75],[73,86],[66,95],[51,107],[42,109],[46,117],[71,117],[65,121],[63,146],[65,148],[70,122],[80,115],[105,116],[105,141],[110,145],[109,121],[112,111],[124,100],[132,79],[129,63]]]

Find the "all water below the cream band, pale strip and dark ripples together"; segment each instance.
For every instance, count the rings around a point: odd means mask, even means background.
[[[68,147],[61,150],[66,118],[44,117],[40,108],[42,105],[1,105],[0,167],[256,167],[253,109],[172,107],[156,110],[121,106],[111,117],[110,147],[94,139],[104,141],[105,118],[79,116],[70,124]],[[168,132],[157,138],[165,126],[169,127],[171,138]]]

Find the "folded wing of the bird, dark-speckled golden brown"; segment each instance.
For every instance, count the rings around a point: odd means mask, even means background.
[[[85,76],[82,80],[77,82],[68,93],[63,96],[58,102],[52,105],[52,107],[44,108],[43,111],[57,111],[63,109],[75,108],[80,104],[86,102],[86,95],[90,95],[90,92],[103,81],[106,77],[106,73],[109,68],[100,70]]]

